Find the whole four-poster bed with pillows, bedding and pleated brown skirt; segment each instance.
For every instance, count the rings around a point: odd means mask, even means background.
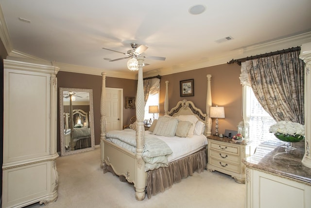
[[[101,98],[101,167],[104,173],[110,171],[133,183],[137,200],[143,200],[145,193],[151,198],[194,171],[200,173],[206,169],[206,136],[211,134],[211,118],[196,108],[193,102],[184,99],[168,110],[168,81],[165,115],[154,122],[154,127],[150,127],[153,130],[145,131],[142,61],[143,58],[138,57],[135,130],[105,131],[105,73],[102,73]],[[210,77],[207,75],[207,112],[211,106]],[[153,151],[157,149],[155,141],[161,144],[156,152]]]

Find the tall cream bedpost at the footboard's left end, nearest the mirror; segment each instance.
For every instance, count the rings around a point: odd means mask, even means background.
[[[102,96],[101,96],[101,168],[104,168],[104,140],[106,139],[106,73],[102,73]]]

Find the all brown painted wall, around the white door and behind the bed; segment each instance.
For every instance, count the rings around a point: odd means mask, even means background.
[[[239,76],[241,67],[237,64],[222,64],[187,72],[165,75],[160,83],[160,114],[164,114],[165,81],[169,81],[169,109],[173,108],[180,100],[187,99],[206,113],[207,74],[211,77],[212,106],[224,106],[225,118],[219,119],[219,133],[225,129],[237,130],[237,125],[242,121],[242,85]],[[94,108],[94,133],[95,145],[100,144],[100,100],[102,89],[102,76],[86,75],[70,72],[58,72],[58,88],[82,88],[93,90]],[[180,97],[179,81],[194,79],[194,96]],[[137,80],[106,77],[106,87],[123,89],[125,97],[136,97]],[[59,92],[59,91],[58,91]],[[57,104],[59,115],[59,102]],[[136,113],[135,109],[125,109],[123,106],[123,125]],[[215,119],[212,119],[212,133],[215,132]],[[59,119],[57,125],[59,132]],[[60,135],[57,135],[57,151],[60,151]]]

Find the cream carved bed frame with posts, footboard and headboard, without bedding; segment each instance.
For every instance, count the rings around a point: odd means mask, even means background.
[[[124,176],[129,183],[133,183],[136,189],[135,196],[137,200],[145,198],[145,188],[147,186],[147,172],[145,172],[145,163],[141,157],[144,142],[145,142],[145,128],[144,128],[144,93],[143,93],[143,74],[142,74],[143,57],[138,57],[138,87],[136,98],[136,116],[137,116],[137,131],[136,131],[136,154],[124,150],[117,145],[106,140],[106,114],[105,114],[105,96],[106,74],[102,73],[102,97],[101,97],[101,168],[104,172],[107,167],[111,167],[115,174]],[[166,81],[166,94],[164,110],[165,114],[176,116],[179,114],[194,114],[199,120],[206,124],[205,135],[211,135],[211,118],[209,117],[209,107],[211,106],[211,93],[210,93],[210,78],[207,75],[207,105],[206,112],[203,113],[200,109],[196,108],[191,101],[179,101],[170,112],[168,111],[168,84]]]

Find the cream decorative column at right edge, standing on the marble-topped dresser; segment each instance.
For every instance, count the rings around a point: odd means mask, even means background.
[[[311,168],[311,42],[302,44],[300,59],[304,60],[305,66],[305,155],[302,164]]]

